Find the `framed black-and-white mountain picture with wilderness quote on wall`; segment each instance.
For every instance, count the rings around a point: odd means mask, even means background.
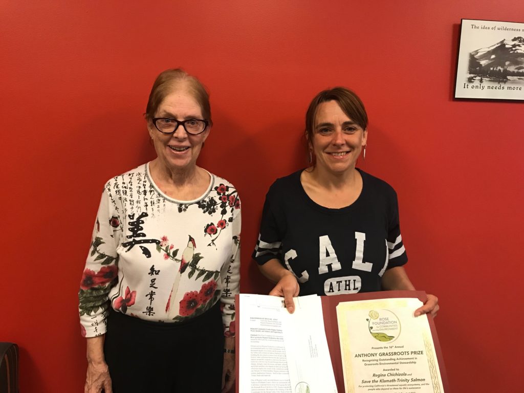
[[[524,100],[524,23],[462,19],[455,98]]]

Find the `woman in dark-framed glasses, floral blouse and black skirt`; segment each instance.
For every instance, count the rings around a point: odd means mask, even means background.
[[[196,166],[209,95],[164,71],[145,117],[157,157],[105,184],[80,285],[85,392],[228,391],[241,215],[235,187]]]

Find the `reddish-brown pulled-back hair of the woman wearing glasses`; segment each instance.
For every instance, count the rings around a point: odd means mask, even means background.
[[[180,82],[185,82],[189,91],[193,94],[193,98],[199,103],[202,110],[204,120],[207,120],[210,125],[213,125],[211,120],[211,104],[209,103],[209,93],[206,91],[204,85],[193,75],[188,74],[181,68],[166,70],[158,75],[151,93],[149,93],[149,100],[147,101],[146,113],[144,116],[149,121],[155,117],[158,106],[172,92],[174,86]]]

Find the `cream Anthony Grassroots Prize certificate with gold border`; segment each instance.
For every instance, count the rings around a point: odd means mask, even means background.
[[[346,393],[443,393],[427,315],[417,298],[341,302],[336,306]]]

